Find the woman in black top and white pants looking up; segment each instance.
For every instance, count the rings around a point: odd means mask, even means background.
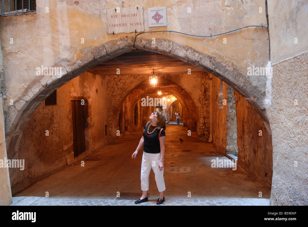
[[[164,112],[156,108],[144,125],[142,137],[136,151],[132,154],[132,158],[137,157],[139,149],[143,146],[143,156],[141,163],[141,190],[142,196],[135,204],[148,201],[149,177],[151,168],[155,173],[159,198],[156,204],[162,204],[165,201],[164,190],[164,154],[165,154],[165,129],[166,119]]]

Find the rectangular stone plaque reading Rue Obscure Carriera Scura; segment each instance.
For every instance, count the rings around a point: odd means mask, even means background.
[[[143,7],[107,9],[108,34],[144,31]]]

